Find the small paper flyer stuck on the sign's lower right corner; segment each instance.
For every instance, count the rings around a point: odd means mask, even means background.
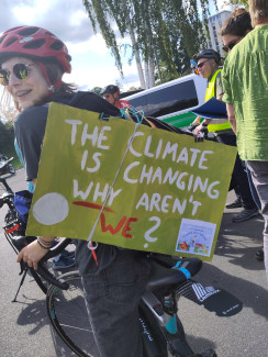
[[[214,223],[182,219],[176,252],[209,257],[215,230]]]

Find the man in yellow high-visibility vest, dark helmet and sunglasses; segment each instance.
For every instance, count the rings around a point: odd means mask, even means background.
[[[212,97],[222,100],[223,87],[221,77],[222,69],[220,68],[221,55],[211,48],[203,49],[196,56],[196,62],[198,63],[198,70],[200,76],[208,79],[205,101]],[[197,118],[196,121],[198,120],[199,118]],[[219,143],[236,146],[236,136],[232,131],[227,119],[204,119],[203,122],[194,129],[194,135],[199,136],[200,132],[206,126],[209,133],[212,132]],[[238,155],[236,157],[234,170],[232,174],[231,188],[235,190],[236,200],[235,202],[226,205],[226,208],[243,208],[239,213],[233,216],[233,222],[236,223],[247,221],[259,214],[256,203],[252,197],[244,165]]]

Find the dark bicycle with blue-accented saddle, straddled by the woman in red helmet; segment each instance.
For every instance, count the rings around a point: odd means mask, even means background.
[[[152,277],[139,304],[143,357],[216,357],[212,349],[201,354],[193,353],[177,314],[179,297],[189,293],[191,289],[187,286],[189,280],[185,272],[196,275],[201,269],[202,261],[198,258],[178,260],[157,254],[149,255],[148,259],[152,263]],[[170,269],[175,261],[177,267]],[[78,356],[96,357],[92,355],[94,346],[88,338],[92,330],[87,319],[79,274],[67,272],[60,276],[60,280],[68,283],[69,289],[49,287],[46,306],[51,323]]]

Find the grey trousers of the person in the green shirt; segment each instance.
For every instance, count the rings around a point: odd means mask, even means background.
[[[265,220],[264,230],[264,252],[265,267],[268,280],[268,161],[247,161],[250,170],[253,183],[256,187],[261,204],[261,214]]]

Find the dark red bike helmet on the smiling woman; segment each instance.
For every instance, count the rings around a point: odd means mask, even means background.
[[[7,30],[0,37],[0,63],[12,56],[53,59],[70,72],[71,57],[65,44],[52,32],[36,26],[18,26]]]

